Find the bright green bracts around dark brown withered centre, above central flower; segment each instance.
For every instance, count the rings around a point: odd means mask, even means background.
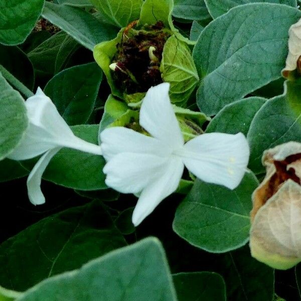
[[[138,102],[149,87],[169,82],[172,102],[187,103],[199,76],[191,42],[173,26],[172,10],[172,1],[146,0],[138,21],[121,29],[114,40],[95,46],[94,58],[114,96]]]

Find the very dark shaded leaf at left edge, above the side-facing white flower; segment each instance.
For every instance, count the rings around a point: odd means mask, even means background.
[[[27,55],[17,46],[0,45],[0,65],[30,90],[34,87],[34,68]]]

